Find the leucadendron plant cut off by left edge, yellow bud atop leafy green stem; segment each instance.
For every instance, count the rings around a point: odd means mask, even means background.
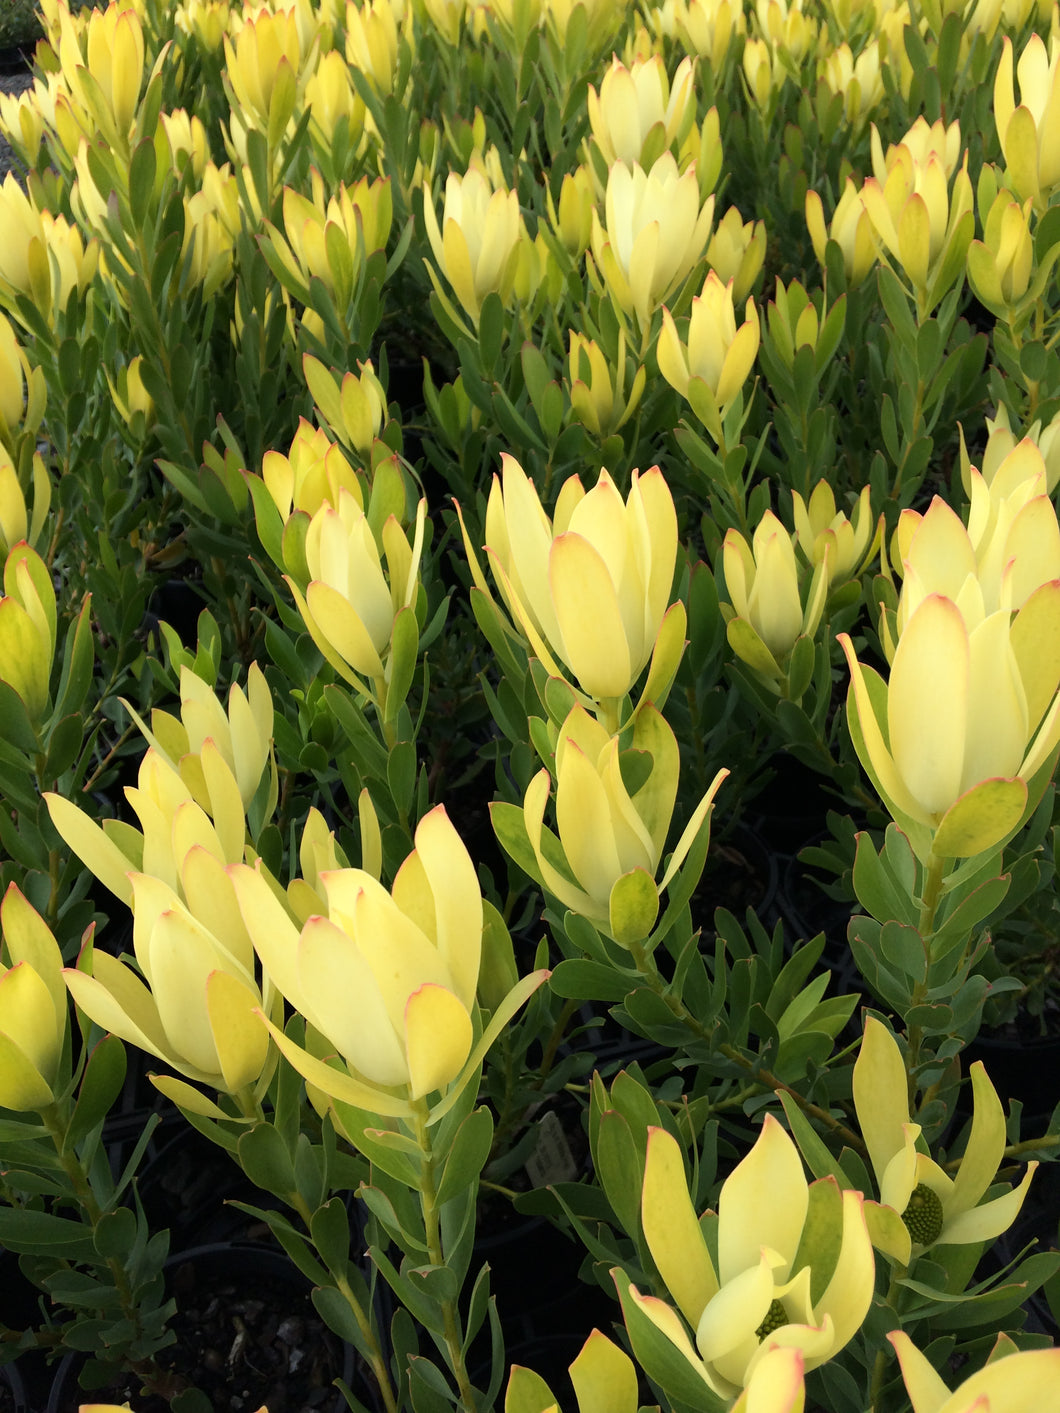
[[[71,1023],[58,942],[14,883],[0,928],[0,1242],[48,1301],[37,1327],[0,1321],[0,1362],[86,1349],[96,1382],[129,1368],[165,1396],[174,1389],[154,1355],[174,1340],[163,1284],[170,1234],[150,1231],[131,1190],[157,1118],[112,1173],[102,1130],[126,1078],[124,1046]]]

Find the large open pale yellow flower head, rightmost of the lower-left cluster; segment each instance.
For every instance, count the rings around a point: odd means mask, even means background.
[[[334,1070],[270,1026],[307,1080],[383,1115],[457,1080],[473,1040],[483,913],[442,805],[417,825],[390,892],[363,869],[325,870],[326,910],[301,928],[260,872],[230,872],[266,972],[343,1061]]]

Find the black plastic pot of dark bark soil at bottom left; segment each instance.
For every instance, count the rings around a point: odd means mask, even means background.
[[[171,1328],[177,1342],[158,1364],[202,1392],[215,1413],[266,1405],[270,1413],[305,1406],[345,1413],[346,1399],[331,1385],[359,1383],[356,1352],[317,1314],[308,1280],[281,1253],[236,1243],[198,1246],[167,1262],[167,1286],[177,1300]],[[58,1365],[45,1413],[76,1413],[81,1403],[130,1402],[137,1413],[164,1413],[168,1403],[140,1392],[136,1375],[119,1375],[88,1393],[78,1379],[82,1354]],[[362,1390],[367,1400],[369,1389]]]

